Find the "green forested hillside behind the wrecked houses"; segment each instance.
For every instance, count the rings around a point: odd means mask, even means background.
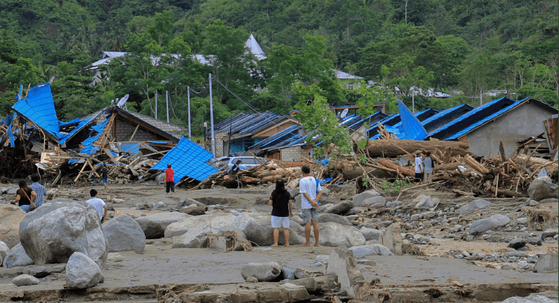
[[[50,81],[60,120],[124,94],[128,109],[153,116],[156,90],[160,108],[168,90],[173,122],[186,125],[191,87],[198,134],[209,120],[208,73],[217,121],[238,111],[287,113],[309,101],[302,85],[330,105],[388,101],[391,109],[393,87],[408,103],[415,86],[454,94],[416,97],[419,109],[478,104],[480,90],[557,107],[558,23],[551,0],[4,0],[0,114],[11,111],[20,83]],[[250,34],[267,59],[245,52]],[[104,50],[130,55],[103,66],[109,80],[90,85],[88,67]],[[346,90],[333,69],[377,86]]]

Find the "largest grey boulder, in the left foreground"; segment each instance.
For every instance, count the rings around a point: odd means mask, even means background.
[[[51,202],[27,213],[20,224],[20,241],[37,265],[67,262],[75,252],[101,267],[107,259],[99,213],[87,202]]]

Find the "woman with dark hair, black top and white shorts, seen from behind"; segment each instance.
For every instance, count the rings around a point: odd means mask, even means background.
[[[271,192],[268,204],[272,206],[271,227],[274,228],[272,246],[278,246],[280,227],[285,239],[285,246],[289,246],[289,218],[293,216],[293,204],[290,193],[285,190],[285,181],[282,178],[276,180],[276,189]]]

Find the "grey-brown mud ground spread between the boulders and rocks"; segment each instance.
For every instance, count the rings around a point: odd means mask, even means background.
[[[112,185],[109,190],[102,190],[102,186],[94,186],[99,190],[99,197],[112,209],[109,218],[122,213],[133,217],[142,214],[171,211],[182,197],[196,199],[208,206],[221,209],[241,209],[245,211],[270,211],[267,205],[267,186],[243,189],[213,188],[210,190],[187,191],[177,188],[173,195],[165,193],[164,185],[156,183],[142,183],[140,185]],[[55,199],[86,200],[89,196],[88,188],[58,188]],[[328,201],[337,202],[354,195],[351,186],[332,188]],[[445,190],[424,188],[410,190],[400,197],[401,202],[411,202],[419,194],[438,197],[441,201],[440,209],[470,202],[474,198],[460,197]],[[4,202],[9,203],[11,197]],[[387,197],[387,201],[396,199]],[[521,216],[518,207],[525,204],[526,198],[520,199],[487,199],[492,202],[492,211],[511,217],[511,220]],[[161,209],[151,211],[149,206],[155,202],[164,202]],[[144,207],[142,207],[144,206]],[[557,209],[556,204],[546,205],[550,209]],[[475,215],[472,215],[475,216]],[[444,231],[440,227],[426,227],[415,233],[429,234],[432,245],[422,246],[425,256],[370,256],[360,261],[361,270],[366,282],[377,281],[377,285],[384,288],[414,289],[422,287],[449,288],[459,284],[472,290],[483,290],[472,300],[500,301],[513,295],[528,295],[529,293],[545,293],[548,297],[557,297],[558,275],[536,274],[532,272],[518,272],[515,270],[500,270],[497,265],[470,262],[455,258],[440,258],[443,251],[452,249],[466,249],[483,253],[504,253],[511,251],[506,243],[484,240],[454,241],[443,239],[438,235]],[[519,232],[504,231],[507,236],[534,233],[534,230]],[[537,232],[536,232],[537,233]],[[152,245],[161,242],[161,246]],[[53,274],[41,278],[36,286],[15,287],[11,279],[22,273],[22,267],[6,269],[0,267],[0,301],[41,301],[41,302],[83,302],[92,300],[128,300],[129,302],[154,302],[154,286],[162,285],[194,285],[209,284],[214,288],[227,288],[238,285],[244,280],[241,268],[248,262],[278,262],[290,268],[302,268],[308,272],[323,272],[325,266],[316,266],[317,255],[328,255],[332,247],[302,247],[290,246],[278,248],[255,248],[250,252],[238,251],[225,253],[210,248],[171,248],[170,239],[148,240],[142,253],[127,251],[119,253],[121,260],[107,260],[102,270],[105,282],[95,286],[85,293],[68,292],[65,290],[65,274]],[[543,246],[528,246],[526,253],[534,255],[557,251],[558,244]],[[458,284],[457,284],[458,283]],[[92,292],[93,290],[93,292]],[[151,293],[150,293],[151,292]],[[97,295],[92,295],[96,293]],[[105,293],[105,295],[100,295]],[[19,296],[19,298],[18,298]],[[485,297],[484,297],[485,296]],[[396,299],[396,297],[394,297]],[[408,298],[408,300],[410,300]],[[397,301],[396,301],[397,302]]]

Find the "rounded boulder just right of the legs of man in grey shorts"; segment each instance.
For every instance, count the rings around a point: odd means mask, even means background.
[[[323,246],[351,247],[365,244],[365,237],[353,226],[327,222],[318,224],[318,229],[320,230],[318,243]],[[311,232],[311,237],[314,237],[314,232]]]

